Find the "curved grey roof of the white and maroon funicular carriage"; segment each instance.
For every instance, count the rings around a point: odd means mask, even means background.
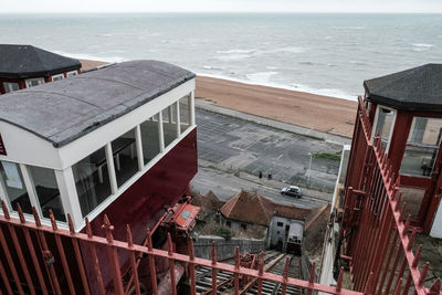
[[[158,61],[114,64],[1,95],[0,120],[61,147],[193,77]]]

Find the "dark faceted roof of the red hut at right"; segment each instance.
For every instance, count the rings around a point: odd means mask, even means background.
[[[364,82],[367,99],[397,109],[442,110],[442,64],[425,64]]]

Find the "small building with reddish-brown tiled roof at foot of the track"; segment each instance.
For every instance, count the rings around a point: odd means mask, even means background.
[[[266,232],[267,245],[285,251],[291,224],[299,224],[303,233],[304,222],[312,210],[297,208],[294,204],[280,204],[260,196],[256,191],[241,190],[227,200],[220,212],[222,222],[232,230],[246,231],[251,226],[262,228]],[[303,235],[297,235],[296,239],[302,241]]]

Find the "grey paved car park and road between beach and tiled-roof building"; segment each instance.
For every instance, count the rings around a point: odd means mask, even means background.
[[[338,161],[313,159],[309,152],[337,152],[341,146],[278,130],[272,127],[197,108],[199,173],[192,188],[206,193],[212,190],[224,200],[241,188],[256,189],[278,202],[295,202],[301,207],[317,207],[329,193],[303,190],[302,200],[280,194],[287,183],[333,188]],[[259,180],[272,175],[272,181]],[[315,200],[319,199],[319,200]]]

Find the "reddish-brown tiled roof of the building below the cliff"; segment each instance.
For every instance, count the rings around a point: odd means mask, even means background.
[[[312,210],[280,204],[256,191],[241,190],[229,198],[220,211],[228,219],[269,226],[273,215],[305,220]]]

